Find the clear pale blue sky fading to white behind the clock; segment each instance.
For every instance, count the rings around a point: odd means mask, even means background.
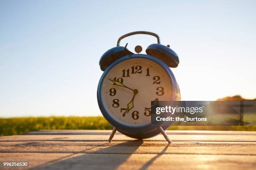
[[[0,1],[0,117],[101,115],[101,55],[156,32],[182,100],[256,98],[256,1]],[[138,35],[128,49],[156,43]]]

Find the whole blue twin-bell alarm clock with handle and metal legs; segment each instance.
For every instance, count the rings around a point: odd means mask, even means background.
[[[156,37],[157,43],[149,45],[146,54],[140,54],[120,46],[120,41],[130,35],[147,34]],[[97,101],[102,115],[116,130],[131,138],[151,138],[160,133],[171,143],[165,130],[172,125],[166,121],[161,125],[151,122],[151,101],[180,100],[179,85],[169,67],[179,65],[178,55],[169,45],[161,45],[160,37],[153,32],[136,31],[121,36],[117,47],[105,52],[100,58],[103,72],[97,88]]]

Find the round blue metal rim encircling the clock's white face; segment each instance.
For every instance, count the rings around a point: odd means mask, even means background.
[[[101,96],[101,87],[102,87],[102,83],[103,80],[105,79],[105,76],[108,74],[108,72],[115,67],[115,65],[119,64],[120,62],[123,62],[125,60],[130,60],[133,58],[145,58],[148,60],[152,60],[154,62],[156,62],[159,66],[161,66],[167,73],[168,77],[169,77],[169,81],[171,83],[172,86],[172,90],[171,90],[171,96],[170,96],[170,100],[171,101],[176,101],[177,99],[177,95],[175,95],[175,92],[177,92],[177,82],[176,79],[174,77],[174,74],[172,73],[172,71],[170,70],[170,68],[161,60],[157,59],[156,57],[152,57],[150,55],[146,55],[146,54],[132,54],[132,55],[127,55],[125,57],[122,57],[118,60],[116,60],[115,62],[113,62],[110,66],[107,67],[107,69],[103,72],[98,87],[97,87],[97,101],[98,101],[98,105],[100,107],[100,111],[102,112],[102,115],[105,117],[106,120],[108,120],[108,122],[110,122],[111,125],[113,125],[115,128],[118,129],[118,131],[123,131],[124,133],[132,133],[132,136],[138,136],[136,134],[140,134],[140,133],[147,133],[149,131],[153,131],[157,129],[157,126],[152,124],[151,122],[146,124],[146,125],[141,125],[141,126],[131,126],[131,125],[125,125],[123,123],[118,122],[117,120],[115,120],[109,113],[108,111],[105,109],[103,102],[102,102],[102,96]],[[175,98],[176,97],[176,98]],[[169,128],[169,126],[172,125],[173,122],[171,121],[167,121],[164,122],[163,124],[159,125],[162,126],[162,128],[165,130],[167,128]],[[122,132],[121,132],[122,133]],[[160,131],[159,131],[160,133]],[[159,133],[155,134],[158,135]],[[155,136],[154,135],[154,136]],[[133,137],[132,137],[133,138]],[[138,138],[138,137],[135,137]],[[151,138],[151,137],[148,137]]]

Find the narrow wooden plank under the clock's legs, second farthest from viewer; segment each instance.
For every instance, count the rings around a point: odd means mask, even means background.
[[[237,141],[255,142],[256,135],[169,135],[173,141]],[[0,137],[0,141],[107,141],[109,135],[13,135]],[[133,141],[125,135],[115,135],[113,141]],[[165,141],[162,135],[144,141]]]

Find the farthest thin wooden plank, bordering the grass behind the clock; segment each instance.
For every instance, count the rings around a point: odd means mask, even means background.
[[[110,135],[111,130],[38,130],[23,135]],[[250,131],[166,130],[168,135],[256,135]],[[116,132],[115,135],[122,135]]]

